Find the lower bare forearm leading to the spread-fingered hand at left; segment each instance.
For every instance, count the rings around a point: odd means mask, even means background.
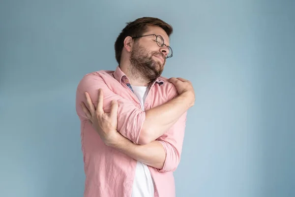
[[[113,142],[110,142],[107,145],[139,162],[157,169],[163,168],[166,153],[160,142],[152,141],[145,145],[134,144],[120,133],[118,133],[116,139],[112,141]]]

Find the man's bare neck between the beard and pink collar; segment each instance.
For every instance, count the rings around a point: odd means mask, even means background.
[[[133,86],[148,86],[151,82],[148,79],[145,79],[130,63],[120,64],[120,69],[126,74]]]

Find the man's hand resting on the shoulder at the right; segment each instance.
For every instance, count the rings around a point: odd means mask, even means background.
[[[195,91],[189,80],[172,77],[169,81],[175,85],[178,94],[188,101],[189,107],[195,104]]]

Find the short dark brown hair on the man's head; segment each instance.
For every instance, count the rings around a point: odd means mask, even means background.
[[[160,27],[167,33],[168,36],[173,33],[173,28],[171,25],[167,24],[161,19],[153,17],[138,18],[135,21],[126,24],[126,27],[118,35],[118,38],[115,42],[115,54],[118,64],[120,64],[121,54],[124,47],[124,39],[127,36],[140,36],[147,31],[148,26]]]

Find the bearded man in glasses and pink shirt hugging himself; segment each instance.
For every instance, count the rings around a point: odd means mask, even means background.
[[[76,109],[81,120],[85,197],[174,197],[192,84],[161,75],[172,57],[164,21],[127,23],[115,42],[115,71],[83,77]],[[92,103],[93,101],[97,101]]]

